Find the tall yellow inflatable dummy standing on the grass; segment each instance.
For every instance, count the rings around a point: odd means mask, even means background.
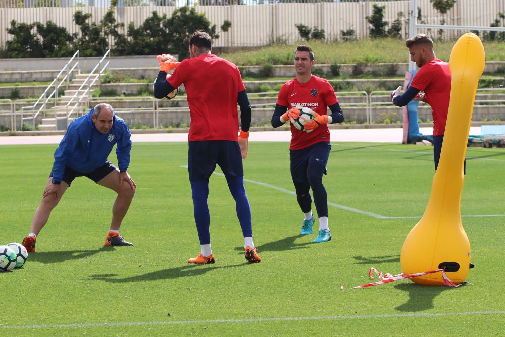
[[[477,83],[484,70],[484,46],[473,33],[460,37],[452,48],[449,113],[438,169],[428,206],[401,249],[401,268],[412,274],[446,268],[455,284],[470,269],[470,242],[461,224],[463,161],[467,148]],[[443,285],[441,273],[415,277],[423,285]]]

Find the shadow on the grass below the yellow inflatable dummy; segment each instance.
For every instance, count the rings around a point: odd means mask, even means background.
[[[460,287],[464,287],[462,284]],[[402,283],[394,286],[395,289],[409,293],[409,300],[395,309],[402,312],[418,312],[434,308],[433,300],[443,291],[457,291],[455,287],[423,286],[414,282]]]

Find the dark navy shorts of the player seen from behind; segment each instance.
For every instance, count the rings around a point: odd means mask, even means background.
[[[243,177],[242,154],[237,142],[230,140],[199,140],[189,142],[189,181],[208,180],[221,167],[226,177]]]

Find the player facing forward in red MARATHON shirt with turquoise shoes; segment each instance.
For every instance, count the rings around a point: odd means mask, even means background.
[[[331,240],[328,228],[328,204],[323,174],[330,155],[329,123],[343,122],[342,109],[335,97],[335,91],[328,81],[312,75],[314,53],[306,45],[299,45],[294,54],[296,77],[286,82],[279,91],[279,97],[272,116],[272,126],[277,128],[300,114],[298,106],[309,107],[315,118],[305,123],[300,131],[291,124],[291,177],[296,189],[296,199],[304,212],[304,223],[300,234],[312,234],[314,216],[309,189],[314,194],[314,203],[319,217],[319,233],[314,242]],[[326,113],[327,107],[331,116]]]

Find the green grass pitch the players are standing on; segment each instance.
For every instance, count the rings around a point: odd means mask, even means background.
[[[55,148],[0,146],[0,244],[28,234]],[[115,194],[77,178],[40,233],[37,252],[22,269],[0,274],[0,334],[503,333],[503,149],[467,151],[461,210],[476,267],[460,288],[403,280],[351,289],[370,282],[370,267],[401,272],[401,246],[431,191],[431,147],[334,143],[323,178],[333,239],[312,244],[316,234],[299,235],[288,144],[250,143],[246,189],[263,261],[244,259],[233,199],[224,177],[213,175],[216,264],[203,266],[187,263],[199,253],[182,167],[187,144],[136,143],[131,157],[138,188],[121,232],[134,246],[104,247]],[[111,160],[117,162],[114,152]]]

